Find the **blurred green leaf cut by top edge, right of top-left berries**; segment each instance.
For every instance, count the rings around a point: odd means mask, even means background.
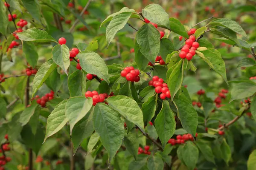
[[[33,18],[41,22],[41,14],[40,9],[38,7],[38,1],[36,0],[22,0],[22,3],[29,14],[32,15]]]

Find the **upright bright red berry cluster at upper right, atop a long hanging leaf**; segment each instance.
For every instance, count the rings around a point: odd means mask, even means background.
[[[189,39],[185,41],[185,45],[181,48],[180,58],[187,60],[191,60],[195,55],[195,50],[199,47],[199,43],[195,42],[195,36],[189,36]]]

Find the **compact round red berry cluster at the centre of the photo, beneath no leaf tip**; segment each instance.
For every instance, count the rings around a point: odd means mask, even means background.
[[[134,69],[133,66],[125,67],[121,71],[121,76],[126,77],[127,81],[131,82],[139,82],[140,81],[140,71],[138,69]]]

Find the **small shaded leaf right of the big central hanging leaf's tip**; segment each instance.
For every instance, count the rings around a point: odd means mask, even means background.
[[[135,160],[137,160],[137,154],[139,149],[137,134],[134,132],[129,132],[124,138],[124,144],[128,152],[131,153],[132,156],[134,156]]]

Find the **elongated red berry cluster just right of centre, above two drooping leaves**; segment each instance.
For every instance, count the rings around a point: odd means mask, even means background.
[[[158,76],[153,76],[152,80],[148,82],[148,85],[152,85],[155,87],[155,92],[160,94],[161,99],[171,98],[171,94],[168,88],[168,85],[164,83],[162,78]]]

